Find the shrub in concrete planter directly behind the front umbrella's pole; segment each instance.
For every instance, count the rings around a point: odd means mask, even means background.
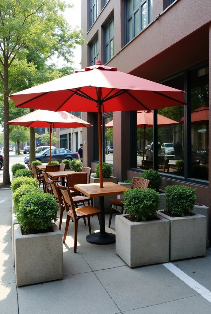
[[[114,182],[117,184],[117,178],[111,176],[112,168],[106,162],[103,162],[103,182]],[[98,164],[95,168],[95,173],[91,173],[90,183],[99,183],[100,182],[100,164]],[[105,213],[110,213],[111,210],[111,202],[110,199],[117,198],[117,195],[104,196],[104,208]],[[95,208],[100,208],[100,200],[99,197],[93,198],[93,206]]]

